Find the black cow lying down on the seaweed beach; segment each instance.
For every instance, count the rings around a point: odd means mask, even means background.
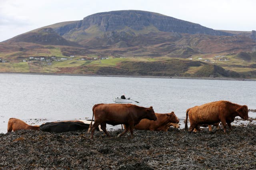
[[[90,121],[91,122],[91,121]],[[70,131],[78,131],[88,129],[90,124],[86,124],[82,121],[59,121],[59,122],[47,122],[40,125],[41,131],[62,133]],[[100,131],[99,127],[96,127],[97,131]]]

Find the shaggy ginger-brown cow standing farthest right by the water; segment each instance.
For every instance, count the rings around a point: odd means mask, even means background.
[[[245,120],[248,119],[248,107],[221,100],[189,108],[186,111],[185,129],[188,129],[188,116],[190,131],[195,128],[200,131],[199,125],[212,125],[221,121],[224,132],[226,132],[226,123],[232,130],[231,122],[234,121],[236,116]]]

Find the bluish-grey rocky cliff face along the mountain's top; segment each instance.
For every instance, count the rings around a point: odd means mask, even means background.
[[[145,27],[153,26],[159,31],[178,32],[206,35],[232,35],[222,31],[216,31],[202,25],[178,20],[162,14],[138,10],[122,10],[102,12],[85,17],[81,21],[65,25],[55,29],[60,35],[64,35],[73,29],[87,29],[96,25],[100,31],[116,31],[129,27],[134,30],[142,30]]]

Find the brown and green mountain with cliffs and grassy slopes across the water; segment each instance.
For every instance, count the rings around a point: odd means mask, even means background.
[[[48,25],[0,43],[0,62],[7,61],[0,72],[256,78],[255,51],[256,31],[214,30],[123,10]],[[48,63],[19,63],[29,57]]]

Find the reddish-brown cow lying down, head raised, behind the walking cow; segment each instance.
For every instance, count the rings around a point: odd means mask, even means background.
[[[150,130],[150,131],[168,131],[171,123],[179,123],[178,117],[172,113],[155,113],[157,120],[152,121],[148,119],[142,119],[138,125],[134,126],[134,129],[138,130]]]

